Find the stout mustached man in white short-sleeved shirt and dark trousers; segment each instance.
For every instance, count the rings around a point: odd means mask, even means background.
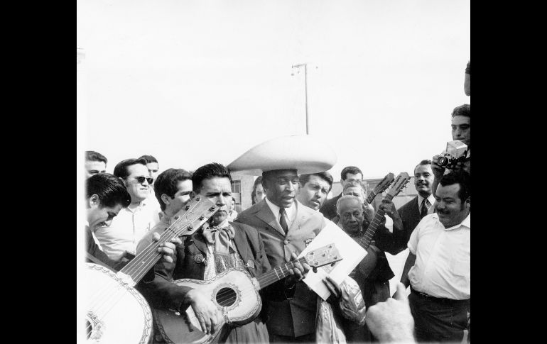
[[[465,171],[440,179],[437,213],[414,229],[401,282],[409,296],[416,339],[461,342],[470,309],[471,184]]]

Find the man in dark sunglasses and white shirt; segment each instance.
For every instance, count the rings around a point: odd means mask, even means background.
[[[94,234],[110,259],[131,259],[139,240],[159,222],[157,204],[149,197],[153,178],[148,177],[144,159],[122,160],[114,167],[114,175],[124,182],[131,204]]]

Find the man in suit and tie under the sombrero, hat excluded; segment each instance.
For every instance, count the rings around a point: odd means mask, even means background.
[[[298,180],[296,170],[264,172],[262,185],[266,198],[236,218],[236,222],[259,231],[271,266],[283,265],[293,255],[300,254],[326,226],[323,214],[295,199]],[[266,301],[270,341],[314,341],[317,294],[304,282],[298,282],[298,278],[281,282],[269,290],[275,292],[277,289],[282,297],[269,297]]]

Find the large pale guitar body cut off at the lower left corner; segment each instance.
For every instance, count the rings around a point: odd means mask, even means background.
[[[86,265],[85,284],[90,300],[86,326],[91,326],[87,343],[148,343],[152,314],[144,297],[132,287],[134,283],[101,265]]]

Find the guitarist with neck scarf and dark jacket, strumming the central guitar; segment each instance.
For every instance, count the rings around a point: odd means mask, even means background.
[[[214,334],[219,331],[218,324],[222,314],[212,303],[210,296],[202,294],[198,289],[178,286],[173,280],[212,279],[229,268],[246,270],[251,276],[258,277],[271,270],[271,267],[259,233],[250,226],[228,221],[229,202],[232,201],[232,177],[229,170],[216,162],[204,165],[193,172],[192,185],[190,198],[199,194],[215,203],[219,210],[211,216],[204,228],[185,236],[183,245],[177,246],[172,263],[156,264],[156,277],[153,281],[143,281],[137,285],[137,289],[157,309],[175,309],[183,314],[189,306],[192,307],[200,321],[201,330]],[[156,184],[156,192],[162,188],[161,184]],[[161,199],[169,201],[170,198],[162,196]],[[167,209],[170,208],[166,207]],[[170,216],[174,215],[175,210],[164,211],[166,219],[162,216],[162,221],[165,221],[165,225],[156,228],[157,231],[163,233],[168,228]],[[148,240],[148,237],[144,240]],[[146,247],[146,242],[139,243],[139,248],[141,247]],[[220,333],[218,341],[269,343],[268,331],[263,321],[259,315],[243,326],[227,328]],[[161,335],[156,335],[154,340],[154,343],[165,343]]]

